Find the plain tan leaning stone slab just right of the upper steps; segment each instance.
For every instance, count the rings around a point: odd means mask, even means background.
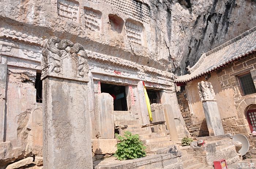
[[[167,129],[170,131],[170,135],[172,138],[172,141],[178,141],[178,133],[173,117],[173,110],[171,105],[164,105],[163,111],[165,113],[165,120],[167,124]]]

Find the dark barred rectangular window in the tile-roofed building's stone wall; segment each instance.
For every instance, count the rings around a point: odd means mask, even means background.
[[[251,73],[238,76],[243,95],[256,93]]]

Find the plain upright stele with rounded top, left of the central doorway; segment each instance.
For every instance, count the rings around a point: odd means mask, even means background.
[[[96,132],[99,138],[114,138],[114,100],[108,93],[95,97]]]

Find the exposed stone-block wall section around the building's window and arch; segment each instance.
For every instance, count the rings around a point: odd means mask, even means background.
[[[246,72],[251,72],[253,81],[256,83],[255,70],[255,53],[217,70],[217,78],[222,89],[233,89],[233,97],[237,110],[237,116],[222,119],[222,125],[225,133],[240,133],[246,135],[251,132],[246,120],[246,111],[249,105],[256,103],[256,94],[242,95],[242,90],[237,76]]]

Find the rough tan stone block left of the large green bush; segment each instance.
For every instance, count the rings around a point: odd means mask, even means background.
[[[114,154],[116,152],[116,139],[95,139],[93,152],[95,154]]]

